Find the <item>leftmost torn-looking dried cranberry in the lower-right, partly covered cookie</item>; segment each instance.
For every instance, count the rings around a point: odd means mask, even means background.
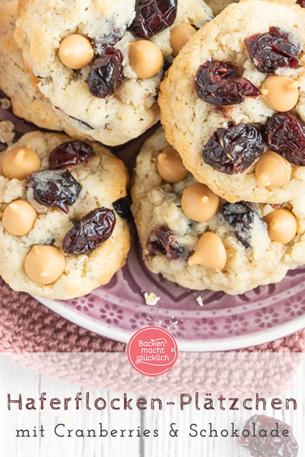
[[[176,260],[186,254],[185,248],[176,241],[174,232],[164,225],[150,233],[146,249],[147,255],[155,255],[160,252],[170,260]]]

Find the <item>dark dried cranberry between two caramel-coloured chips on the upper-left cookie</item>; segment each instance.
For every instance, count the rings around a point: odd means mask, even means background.
[[[117,93],[123,84],[123,54],[119,49],[107,47],[90,70],[89,90],[93,96],[106,99]]]

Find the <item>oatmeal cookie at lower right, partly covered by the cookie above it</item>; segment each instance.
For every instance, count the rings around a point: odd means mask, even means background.
[[[305,262],[304,196],[231,204],[184,172],[175,154],[160,129],[135,168],[132,212],[150,271],[190,289],[236,295],[279,282]]]

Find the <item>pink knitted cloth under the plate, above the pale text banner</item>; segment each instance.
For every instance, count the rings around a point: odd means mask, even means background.
[[[124,352],[119,343],[75,325],[0,279],[2,352]],[[304,352],[305,330],[241,352]]]

